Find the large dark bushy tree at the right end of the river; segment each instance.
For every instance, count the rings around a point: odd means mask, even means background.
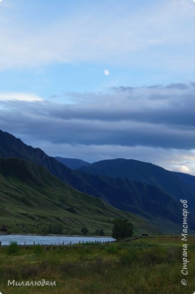
[[[133,235],[133,224],[131,222],[122,219],[115,219],[113,223],[113,238],[120,239],[124,237],[131,237]]]

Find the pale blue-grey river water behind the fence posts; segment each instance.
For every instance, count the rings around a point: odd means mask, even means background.
[[[86,242],[106,242],[115,241],[109,237],[73,237],[73,236],[37,236],[37,235],[0,235],[1,245],[9,245],[11,241],[16,241],[18,245],[69,245]],[[64,242],[64,243],[63,243]]]

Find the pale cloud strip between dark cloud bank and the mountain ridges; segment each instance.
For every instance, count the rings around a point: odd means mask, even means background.
[[[187,172],[195,175],[195,150],[176,150],[154,147],[126,147],[120,145],[76,145],[50,143],[48,141],[32,141],[26,136],[23,141],[33,147],[40,147],[50,156],[81,158],[88,162],[103,159],[127,158],[151,162],[174,172]],[[187,166],[188,170],[181,169]]]

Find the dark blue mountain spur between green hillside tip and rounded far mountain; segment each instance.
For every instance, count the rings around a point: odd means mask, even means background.
[[[87,176],[86,176],[87,177]],[[108,203],[151,221],[163,232],[181,231],[181,203],[155,186],[122,178],[88,175],[88,180]],[[195,214],[191,212],[189,228],[195,230]]]

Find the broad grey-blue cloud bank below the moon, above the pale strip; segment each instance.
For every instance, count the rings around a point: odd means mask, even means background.
[[[142,87],[130,92],[119,87],[107,93],[67,95],[73,104],[0,94],[1,125],[19,132],[23,125],[27,136],[53,143],[195,147],[194,87]]]

